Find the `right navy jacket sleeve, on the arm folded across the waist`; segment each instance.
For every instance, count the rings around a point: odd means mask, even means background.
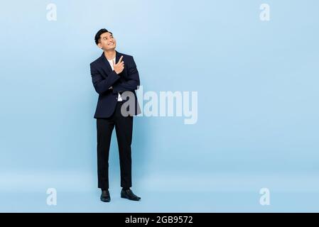
[[[121,81],[113,86],[113,93],[134,91],[140,85],[139,82],[139,71],[136,68],[134,58],[131,57],[131,62],[128,64],[127,79],[126,81]]]

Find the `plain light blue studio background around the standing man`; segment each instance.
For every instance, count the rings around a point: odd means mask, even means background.
[[[58,7],[58,21],[46,6]],[[259,20],[259,6],[271,20]],[[1,1],[0,211],[319,211],[319,3]],[[99,201],[89,64],[107,28],[147,91],[198,92],[198,122],[134,118],[133,190]],[[46,204],[46,189],[58,205]],[[271,205],[259,204],[259,189]]]

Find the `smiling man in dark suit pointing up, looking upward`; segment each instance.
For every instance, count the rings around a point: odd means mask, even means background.
[[[101,201],[109,202],[109,146],[115,126],[121,170],[121,198],[139,201],[131,187],[131,140],[133,116],[141,114],[135,90],[139,72],[134,58],[115,50],[117,41],[107,29],[95,35],[95,43],[103,50],[90,64],[92,83],[99,94],[94,118],[97,119],[97,177],[102,190]]]

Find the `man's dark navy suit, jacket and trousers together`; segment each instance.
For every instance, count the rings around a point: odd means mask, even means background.
[[[92,83],[99,94],[94,118],[97,118],[97,177],[98,187],[109,189],[109,147],[112,131],[115,127],[119,147],[119,163],[121,170],[121,187],[131,187],[131,140],[133,132],[133,116],[141,114],[135,90],[139,86],[139,72],[134,59],[130,55],[116,52],[116,63],[123,56],[124,70],[117,74],[112,70],[107,58],[101,57],[90,64]],[[109,89],[113,87],[113,89]],[[118,101],[118,92],[123,101]],[[129,101],[124,99],[123,92],[132,92],[135,108],[129,116],[121,114],[121,106]],[[126,108],[129,111],[131,107]]]

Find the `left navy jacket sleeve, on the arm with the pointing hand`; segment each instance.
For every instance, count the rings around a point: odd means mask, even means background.
[[[92,83],[93,83],[95,91],[98,94],[107,92],[109,90],[109,87],[111,87],[120,78],[119,75],[114,70],[108,74],[107,78],[104,78],[102,74],[100,74],[97,71],[94,65],[92,65],[92,63],[90,64],[90,69],[91,69]]]

